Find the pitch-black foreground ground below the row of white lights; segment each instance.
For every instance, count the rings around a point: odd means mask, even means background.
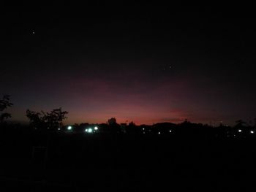
[[[256,185],[256,138],[26,131],[0,137],[0,191],[246,191]]]

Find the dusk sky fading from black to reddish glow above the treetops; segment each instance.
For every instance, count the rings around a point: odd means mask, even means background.
[[[1,10],[1,94],[67,123],[256,117],[253,4],[23,4]]]

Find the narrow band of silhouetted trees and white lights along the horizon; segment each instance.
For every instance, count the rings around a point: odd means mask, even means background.
[[[26,131],[39,132],[56,132],[66,134],[145,134],[145,135],[180,135],[183,137],[232,137],[244,138],[256,135],[256,118],[255,122],[249,123],[243,120],[237,120],[235,126],[227,126],[219,123],[219,126],[210,126],[202,123],[191,123],[184,120],[183,123],[155,123],[154,125],[136,125],[134,122],[117,123],[116,118],[110,118],[106,123],[90,124],[75,123],[74,125],[64,125],[63,120],[67,119],[67,111],[63,111],[61,107],[53,109],[50,112],[34,112],[26,110],[26,117],[29,125],[21,125],[20,123],[7,123],[7,119],[11,118],[10,113],[4,112],[8,107],[12,107],[10,96],[4,95],[0,99],[0,126],[5,131],[11,131],[18,128]],[[97,130],[95,130],[97,128]]]

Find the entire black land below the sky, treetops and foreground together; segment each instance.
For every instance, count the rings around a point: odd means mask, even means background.
[[[0,101],[0,191],[246,191],[255,185],[255,125],[64,125],[67,112],[26,111],[7,123]],[[246,183],[241,182],[246,180]]]

